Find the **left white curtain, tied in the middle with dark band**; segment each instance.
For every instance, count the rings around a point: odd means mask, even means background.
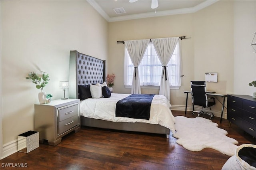
[[[125,47],[134,65],[131,94],[141,94],[140,75],[138,71],[138,66],[140,65],[140,62],[144,56],[146,48],[148,47],[149,41],[150,41],[149,39],[124,41]]]

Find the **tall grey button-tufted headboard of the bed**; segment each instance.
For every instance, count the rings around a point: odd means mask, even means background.
[[[103,83],[105,79],[105,60],[70,51],[69,98],[79,99],[78,85]]]

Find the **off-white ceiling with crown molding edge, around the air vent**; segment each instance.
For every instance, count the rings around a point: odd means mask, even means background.
[[[158,7],[151,8],[151,0],[87,0],[108,22],[193,13],[218,0],[158,0]],[[124,14],[116,14],[114,8],[124,8]]]

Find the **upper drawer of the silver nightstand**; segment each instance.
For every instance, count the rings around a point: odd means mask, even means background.
[[[59,109],[59,121],[63,121],[75,115],[78,116],[78,104]]]

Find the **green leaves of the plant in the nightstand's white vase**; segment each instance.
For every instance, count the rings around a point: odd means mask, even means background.
[[[44,87],[46,86],[46,84],[48,84],[49,79],[49,75],[46,74],[45,72],[42,72],[42,77],[39,77],[37,75],[37,73],[35,73],[34,71],[30,72],[28,74],[28,77],[26,77],[26,79],[31,79],[32,83],[36,84],[36,89],[40,89],[41,92],[43,92]]]

